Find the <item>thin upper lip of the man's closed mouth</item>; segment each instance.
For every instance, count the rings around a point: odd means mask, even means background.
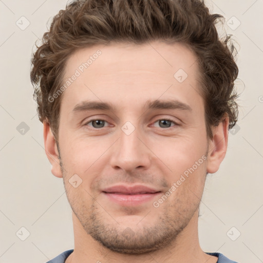
[[[129,195],[129,194],[154,194],[161,191],[145,185],[127,186],[127,185],[119,184],[105,188],[102,190],[102,192]]]

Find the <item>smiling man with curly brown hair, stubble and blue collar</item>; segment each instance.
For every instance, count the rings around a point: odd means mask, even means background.
[[[234,262],[198,241],[237,121],[220,17],[198,0],[87,0],[53,18],[31,81],[75,246],[49,262]]]

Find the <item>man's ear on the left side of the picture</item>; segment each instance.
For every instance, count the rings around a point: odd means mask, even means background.
[[[62,178],[59,151],[58,151],[57,143],[55,143],[55,137],[51,131],[49,123],[47,121],[44,121],[43,125],[44,125],[43,132],[44,132],[45,151],[47,158],[51,163],[51,173],[54,176]]]

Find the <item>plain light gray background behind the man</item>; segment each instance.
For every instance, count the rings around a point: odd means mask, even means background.
[[[71,209],[62,179],[50,172],[43,127],[37,119],[29,78],[33,44],[42,38],[51,18],[66,3],[66,0],[0,0],[0,262],[3,263],[46,262],[73,248]],[[226,30],[239,43],[236,86],[242,94],[238,127],[229,134],[227,156],[220,170],[206,181],[200,207],[200,243],[206,252],[218,251],[239,263],[259,263],[263,262],[263,1],[206,3],[213,13],[226,17],[230,25],[226,25]],[[26,25],[26,20],[21,16],[30,22],[24,30],[20,27]],[[233,16],[241,23],[235,30],[238,21]],[[21,122],[29,127],[24,135],[18,126]],[[24,241],[21,238],[27,232],[22,227],[30,233]],[[231,240],[239,232],[241,235]]]

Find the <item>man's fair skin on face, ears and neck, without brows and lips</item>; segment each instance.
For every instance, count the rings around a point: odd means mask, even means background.
[[[206,173],[215,173],[226,155],[229,119],[212,127],[211,140],[206,137],[195,54],[179,43],[97,45],[71,55],[65,79],[98,49],[100,57],[63,92],[59,151],[44,122],[51,171],[63,178],[72,208],[75,246],[66,262],[216,262],[200,248],[198,210]],[[180,68],[188,74],[182,83],[174,78]],[[192,110],[144,107],[157,99],[176,99]],[[88,100],[115,110],[73,111]],[[172,122],[161,122],[167,118]],[[98,128],[91,120],[105,122]],[[121,129],[127,121],[135,127],[130,135]],[[155,208],[153,201],[202,156],[205,161]],[[76,188],[69,183],[74,174],[82,179]],[[101,193],[118,183],[161,194],[137,206],[120,205]]]

